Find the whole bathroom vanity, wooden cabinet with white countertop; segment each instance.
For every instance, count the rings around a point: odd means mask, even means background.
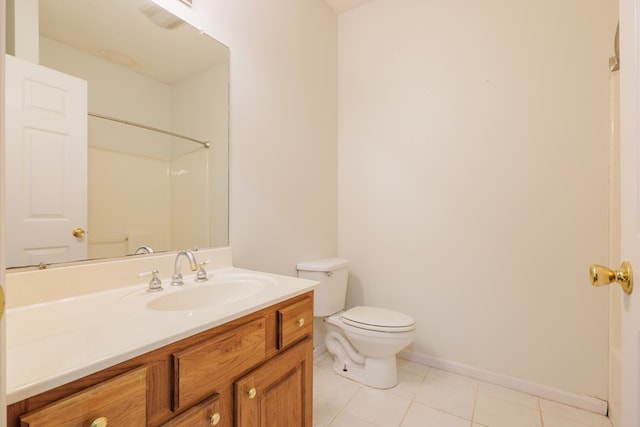
[[[106,345],[113,340],[114,349],[105,350],[111,355],[102,358],[98,356],[101,350],[80,346],[66,356],[65,349],[43,348],[39,356],[22,360],[23,352],[50,341],[34,343],[35,337],[12,340],[12,319],[19,322],[21,310],[47,309],[49,303],[17,308],[13,313],[9,310],[8,371],[13,378],[9,379],[7,425],[312,425],[315,283],[233,268],[214,271],[213,276],[212,283],[204,285],[185,280],[184,289],[165,285],[158,295],[138,284],[80,297],[85,305],[93,306],[94,297],[105,305],[104,318],[98,323],[86,320],[88,328],[100,323],[115,327],[96,329],[102,338],[84,343],[102,341]],[[248,278],[264,279],[272,286],[265,285],[254,295],[236,296],[236,300],[227,298],[211,309],[180,306],[199,304],[203,292],[218,285],[220,289],[234,285],[241,289],[241,283],[251,283]],[[185,299],[193,290],[198,298]],[[171,303],[154,306],[152,301],[157,303],[161,297]],[[68,300],[73,303],[73,298]],[[105,308],[110,304],[115,308]],[[82,310],[71,311],[86,315]],[[119,316],[112,316],[116,313]],[[49,318],[56,323],[55,316]],[[16,324],[16,328],[21,326]],[[68,344],[65,334],[82,336],[78,327],[70,333],[61,324],[56,328],[60,345]],[[115,330],[119,333],[105,335]],[[116,339],[126,343],[118,346]],[[85,350],[91,356],[85,366],[71,369],[71,374],[64,372],[62,359],[56,362],[59,355],[83,358],[77,353]],[[59,372],[54,369],[45,374],[43,369],[49,368],[27,366],[34,360],[57,364]],[[29,369],[40,380],[27,378]],[[85,372],[90,373],[83,375]],[[22,386],[18,386],[20,380]]]

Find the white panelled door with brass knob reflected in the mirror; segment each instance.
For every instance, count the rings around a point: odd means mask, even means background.
[[[87,83],[9,55],[5,66],[7,266],[86,259]]]

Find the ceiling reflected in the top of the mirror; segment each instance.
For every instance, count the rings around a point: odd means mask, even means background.
[[[175,17],[149,0],[39,0],[40,33],[170,84],[227,61],[228,50],[177,20],[164,28],[145,16],[153,6],[160,23]],[[186,48],[188,47],[188,48]]]

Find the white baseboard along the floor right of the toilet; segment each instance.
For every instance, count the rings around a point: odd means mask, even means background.
[[[401,351],[398,354],[398,358],[420,363],[422,365],[431,366],[433,368],[442,369],[443,371],[451,372],[454,374],[475,378],[477,380],[499,385],[511,390],[520,391],[543,399],[563,403],[565,405],[584,409],[586,411],[595,412],[596,414],[607,415],[607,402],[595,397],[570,393],[565,390],[559,390],[542,384],[536,384],[527,380],[523,380],[521,378],[515,378],[504,374],[486,371],[484,369],[479,369],[450,360],[439,359],[437,357],[428,356],[426,354],[417,353],[411,350]]]

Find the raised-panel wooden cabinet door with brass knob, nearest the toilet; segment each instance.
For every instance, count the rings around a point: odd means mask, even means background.
[[[235,382],[239,427],[312,425],[313,345],[306,338]]]

